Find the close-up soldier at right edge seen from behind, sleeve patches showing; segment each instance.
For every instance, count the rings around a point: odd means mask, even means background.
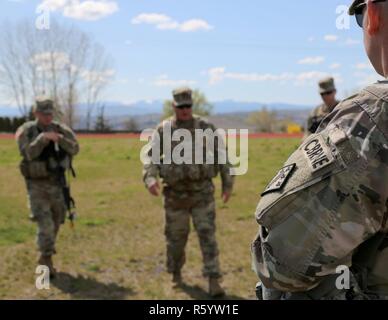
[[[368,56],[387,77],[388,2],[354,1],[350,14],[367,26]],[[252,245],[258,297],[387,299],[387,204],[385,80],[340,103],[263,192]]]

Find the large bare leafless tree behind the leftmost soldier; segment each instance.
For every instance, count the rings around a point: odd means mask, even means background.
[[[73,127],[77,107],[85,103],[90,129],[92,112],[114,75],[104,48],[84,32],[53,21],[49,30],[23,21],[8,22],[0,31],[0,88],[20,113],[27,116],[35,98],[48,95]]]

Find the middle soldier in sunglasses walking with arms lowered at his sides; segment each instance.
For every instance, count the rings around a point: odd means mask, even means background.
[[[212,133],[216,128],[206,120],[193,116],[192,114],[192,91],[189,88],[177,89],[173,92],[173,108],[175,116],[163,121],[157,127],[157,137],[154,135],[152,144],[160,147],[160,156],[166,159],[163,154],[163,145],[169,144],[163,135],[166,130],[171,130],[171,137],[178,129],[187,129],[191,138],[195,137],[194,131],[198,129],[210,129]],[[171,141],[171,150],[179,144],[179,141]],[[192,146],[195,147],[193,141]],[[218,143],[215,143],[218,146]],[[206,157],[206,152],[203,154]],[[193,150],[193,155],[195,150]],[[215,154],[217,149],[215,150]],[[185,246],[190,232],[190,216],[193,219],[202,251],[204,268],[203,275],[209,278],[209,293],[211,296],[220,296],[224,290],[219,284],[221,271],[218,260],[218,247],[216,242],[215,225],[215,201],[214,185],[212,179],[218,172],[222,178],[222,197],[226,203],[232,193],[233,177],[231,166],[228,161],[225,164],[172,164],[163,162],[161,165],[155,163],[145,164],[143,178],[149,192],[159,195],[158,176],[163,180],[163,199],[165,209],[165,236],[167,240],[167,269],[173,274],[173,282],[182,282],[181,269],[185,264]]]

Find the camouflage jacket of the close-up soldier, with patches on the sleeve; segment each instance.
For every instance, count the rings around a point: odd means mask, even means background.
[[[387,181],[385,81],[344,100],[263,192],[252,253],[265,287],[306,292],[338,266],[351,267],[361,244],[388,231]],[[368,290],[384,288],[378,293],[386,295],[387,268],[379,272],[370,275],[374,285]]]

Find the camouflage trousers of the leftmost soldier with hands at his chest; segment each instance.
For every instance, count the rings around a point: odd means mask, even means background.
[[[38,249],[43,256],[51,256],[56,253],[56,238],[66,216],[62,189],[54,181],[29,180],[27,191],[31,220],[38,225]]]

